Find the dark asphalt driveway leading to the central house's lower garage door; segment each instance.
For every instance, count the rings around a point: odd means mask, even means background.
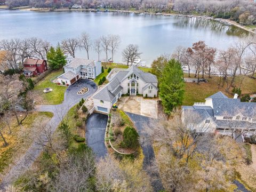
[[[93,113],[86,122],[86,142],[93,149],[97,158],[107,154],[105,146],[105,130],[108,123],[108,116]]]

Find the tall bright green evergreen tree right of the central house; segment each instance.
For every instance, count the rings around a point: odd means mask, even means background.
[[[180,106],[183,101],[184,86],[183,71],[179,61],[171,59],[163,68],[161,83],[159,85],[159,97],[166,114]]]

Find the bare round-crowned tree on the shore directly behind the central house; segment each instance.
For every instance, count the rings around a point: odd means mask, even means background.
[[[126,46],[126,48],[122,53],[123,60],[127,63],[127,66],[129,66],[129,62],[131,62],[131,65],[132,65],[135,59],[140,58],[141,54],[142,53],[139,52],[139,46],[134,44],[129,44],[128,46]]]

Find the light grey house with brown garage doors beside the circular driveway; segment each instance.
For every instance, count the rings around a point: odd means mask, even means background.
[[[58,82],[71,85],[79,78],[94,79],[100,75],[101,61],[74,58],[63,69],[65,73],[58,77]]]

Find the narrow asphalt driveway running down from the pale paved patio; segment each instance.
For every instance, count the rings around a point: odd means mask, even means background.
[[[154,121],[156,121],[156,119],[127,112],[125,113],[132,119],[140,135],[140,145],[143,151],[143,155],[145,156],[143,159],[143,168],[151,178],[154,178],[151,181],[151,186],[153,186],[154,191],[163,190],[163,185],[159,177],[159,173],[153,173],[147,169],[147,167],[151,166],[155,161],[154,149],[150,141],[150,136],[147,129],[151,129],[152,126],[154,126]]]

